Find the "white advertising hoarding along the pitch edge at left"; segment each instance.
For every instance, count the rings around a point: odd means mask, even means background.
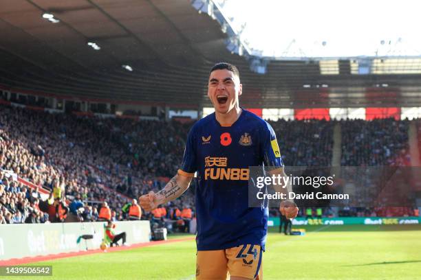
[[[104,237],[105,222],[0,225],[0,260],[97,249]],[[127,243],[149,242],[149,221],[116,222],[116,233],[125,231]],[[76,240],[80,235],[93,239]]]

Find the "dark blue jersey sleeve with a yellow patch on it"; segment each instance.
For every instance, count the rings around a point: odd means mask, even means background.
[[[275,135],[272,126],[266,123],[261,135],[263,135],[263,139],[261,141],[263,164],[266,167],[283,167],[277,136]]]

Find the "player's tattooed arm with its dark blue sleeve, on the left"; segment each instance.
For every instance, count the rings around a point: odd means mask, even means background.
[[[188,189],[191,179],[197,170],[195,143],[193,127],[188,133],[180,170],[178,170],[177,175],[169,180],[169,183],[165,185],[164,189],[158,191],[158,193],[155,194],[153,191],[149,191],[149,194],[140,196],[139,204],[144,210],[151,211],[157,208],[158,205],[175,200],[175,198],[181,196]]]

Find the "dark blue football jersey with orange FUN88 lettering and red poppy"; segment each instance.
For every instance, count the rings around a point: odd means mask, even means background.
[[[197,250],[261,245],[268,230],[268,208],[248,207],[249,166],[283,166],[270,124],[242,110],[232,126],[215,113],[188,133],[179,174],[196,178]]]

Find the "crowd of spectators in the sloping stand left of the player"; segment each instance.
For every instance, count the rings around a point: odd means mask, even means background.
[[[120,218],[129,197],[158,191],[176,174],[188,126],[98,119],[1,106],[0,167],[66,198],[107,200]],[[183,148],[180,148],[183,147]],[[175,204],[193,205],[193,196]],[[89,212],[89,207],[87,207]],[[95,217],[96,207],[91,209]]]

